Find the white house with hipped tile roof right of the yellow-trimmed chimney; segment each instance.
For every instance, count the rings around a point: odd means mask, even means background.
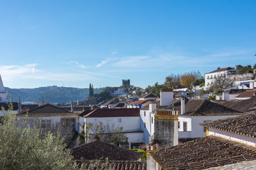
[[[198,123],[243,115],[205,99],[181,100],[174,103],[178,111],[178,138],[206,137],[206,129]]]

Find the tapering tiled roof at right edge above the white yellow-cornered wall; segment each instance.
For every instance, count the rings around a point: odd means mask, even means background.
[[[248,137],[256,137],[256,113],[200,123],[200,125]]]

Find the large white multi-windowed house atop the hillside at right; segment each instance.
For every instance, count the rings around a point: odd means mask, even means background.
[[[228,78],[231,74],[237,74],[238,70],[231,67],[225,67],[225,68],[218,68],[214,70],[213,72],[209,72],[205,74],[205,88],[208,89],[211,84],[213,84],[214,79],[217,77],[226,77]]]

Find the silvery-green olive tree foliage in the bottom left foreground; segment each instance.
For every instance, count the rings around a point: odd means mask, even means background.
[[[0,169],[78,169],[59,133],[41,139],[40,127],[16,118],[12,106],[0,127]]]

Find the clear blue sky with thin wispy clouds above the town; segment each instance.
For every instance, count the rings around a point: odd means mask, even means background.
[[[4,86],[145,88],[256,63],[256,1],[0,1]]]

